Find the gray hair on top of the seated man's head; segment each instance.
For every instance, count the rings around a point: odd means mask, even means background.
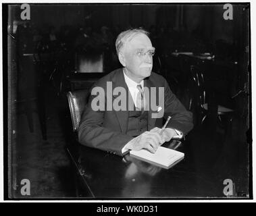
[[[119,54],[120,50],[124,47],[125,43],[132,40],[137,34],[146,34],[149,36],[149,32],[143,28],[131,28],[124,32],[121,32],[116,38],[116,53]]]

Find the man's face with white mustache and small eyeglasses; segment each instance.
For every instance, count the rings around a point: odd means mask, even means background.
[[[124,67],[134,80],[141,81],[151,75],[154,52],[155,48],[145,34],[137,34],[124,45]]]

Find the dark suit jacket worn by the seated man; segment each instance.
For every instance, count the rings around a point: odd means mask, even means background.
[[[114,70],[98,80],[93,87],[100,86],[105,90],[105,103],[107,97],[107,82],[112,82],[113,89],[122,86],[131,97],[128,86],[124,80],[122,69]],[[170,90],[168,82],[162,76],[151,73],[149,78],[144,80],[144,86],[164,87],[164,115],[170,115],[172,119],[168,124],[168,128],[180,130],[183,134],[187,134],[193,128],[193,115],[186,111],[182,103]],[[92,87],[92,88],[93,88]],[[82,119],[78,129],[78,140],[81,144],[99,148],[103,151],[109,151],[114,154],[122,155],[122,148],[126,143],[132,140],[132,136],[126,134],[128,126],[128,110],[127,111],[93,111],[91,102],[96,96],[90,95]],[[115,99],[117,96],[112,95]],[[127,97],[127,99],[128,99]],[[157,96],[158,97],[158,94]],[[106,109],[105,109],[106,110]],[[152,118],[154,111],[149,109],[148,113],[148,130],[158,126],[163,126],[163,118]]]

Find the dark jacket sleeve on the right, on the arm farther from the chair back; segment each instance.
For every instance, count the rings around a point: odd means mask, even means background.
[[[165,119],[168,115],[172,117],[167,127],[179,130],[186,135],[193,128],[193,114],[180,103],[166,80],[164,89],[164,117]]]

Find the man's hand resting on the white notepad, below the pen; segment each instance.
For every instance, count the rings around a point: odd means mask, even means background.
[[[158,146],[163,144],[163,142],[164,141],[161,139],[158,132],[147,131],[131,140],[126,148],[134,151],[139,151],[142,148],[146,148],[151,153],[155,153]]]

